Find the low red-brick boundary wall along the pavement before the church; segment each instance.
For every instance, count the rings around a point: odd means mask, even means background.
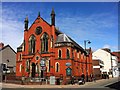
[[[79,77],[74,78],[74,82],[78,82]],[[60,77],[55,77],[56,82],[55,84],[59,85],[66,85],[66,84],[71,84],[71,77],[66,77],[63,76],[62,78]],[[89,77],[90,79],[90,77]],[[96,79],[100,79],[100,76],[97,75]],[[15,74],[7,74],[6,75],[6,81],[3,80],[3,82],[6,83],[16,83],[16,84],[39,84],[39,85],[44,85],[44,84],[50,84],[50,77],[46,78],[39,78],[39,77],[17,77]]]

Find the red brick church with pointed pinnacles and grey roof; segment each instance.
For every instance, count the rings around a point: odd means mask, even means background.
[[[66,80],[71,76],[81,76],[82,73],[93,73],[91,48],[85,51],[55,27],[53,9],[51,24],[47,23],[40,13],[29,29],[28,17],[24,23],[24,40],[17,48],[16,76],[55,76]]]

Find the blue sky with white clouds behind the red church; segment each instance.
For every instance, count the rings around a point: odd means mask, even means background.
[[[15,51],[23,42],[25,17],[28,16],[29,27],[38,12],[51,23],[52,8],[56,27],[83,48],[84,40],[90,40],[87,48],[93,51],[100,48],[118,51],[117,2],[2,2],[0,6],[0,42],[9,44]]]

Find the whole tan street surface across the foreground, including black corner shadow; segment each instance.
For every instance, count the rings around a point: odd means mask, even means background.
[[[8,84],[8,83],[0,83],[2,90],[7,90],[6,88],[23,88],[24,90],[31,90],[30,88],[41,88],[42,90],[47,90],[46,88],[49,88],[49,90],[53,90],[53,88],[66,88],[67,90],[74,90],[74,89],[84,89],[84,88],[92,88],[96,90],[96,88],[105,88],[108,90],[120,90],[120,77],[119,78],[110,78],[110,79],[102,79],[97,80],[96,82],[87,82],[84,85],[18,85],[18,84]],[[5,89],[4,89],[5,88]],[[29,88],[29,89],[27,89]],[[44,88],[44,89],[43,89]],[[39,90],[38,89],[38,90]],[[36,89],[35,89],[36,90]],[[85,89],[86,90],[86,89]]]

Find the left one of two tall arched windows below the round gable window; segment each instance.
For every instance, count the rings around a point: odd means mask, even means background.
[[[29,53],[32,54],[32,53],[35,53],[35,36],[32,35],[30,36],[29,38]]]

